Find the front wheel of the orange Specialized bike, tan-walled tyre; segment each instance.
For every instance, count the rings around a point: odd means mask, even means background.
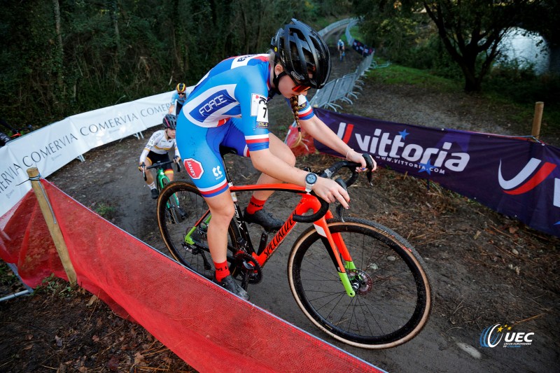
[[[352,256],[356,295],[346,294],[323,239],[314,227],[298,237],[288,258],[295,301],[314,325],[364,349],[388,349],[418,335],[433,306],[426,265],[392,230],[369,220],[328,220]],[[357,276],[359,274],[359,276]],[[359,281],[362,279],[363,281]]]

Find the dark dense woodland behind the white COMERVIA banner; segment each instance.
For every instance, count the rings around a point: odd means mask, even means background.
[[[336,20],[337,9],[346,13],[349,2],[6,0],[0,118],[42,127],[180,81],[194,85],[224,58],[267,52],[290,18],[316,26]]]

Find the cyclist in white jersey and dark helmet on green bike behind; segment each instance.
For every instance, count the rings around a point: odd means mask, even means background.
[[[144,147],[140,155],[140,161],[138,169],[140,171],[146,172],[146,167],[151,166],[155,162],[167,162],[169,160],[169,155],[167,154],[169,150],[175,150],[175,156],[173,160],[175,163],[181,160],[179,155],[179,150],[177,149],[177,144],[175,142],[175,131],[177,127],[177,117],[174,114],[166,114],[162,121],[163,129],[156,131],[150,136],[150,140]],[[169,178],[169,181],[173,181],[173,169],[169,166],[165,170],[165,174]],[[150,187],[150,192],[153,199],[158,198],[158,189],[155,188],[155,181],[153,179],[153,174],[151,172],[146,172],[146,184]]]

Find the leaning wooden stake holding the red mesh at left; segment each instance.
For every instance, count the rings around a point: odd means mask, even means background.
[[[55,242],[57,248],[58,256],[62,262],[62,267],[64,267],[64,272],[68,276],[68,281],[71,285],[76,284],[76,271],[70,261],[70,255],[68,254],[68,248],[66,248],[66,243],[64,242],[64,237],[62,237],[62,231],[56,221],[55,213],[50,207],[50,202],[48,200],[47,193],[41,185],[41,177],[39,176],[39,171],[36,167],[31,167],[27,169],[27,174],[29,175],[29,180],[31,180],[31,186],[37,197],[39,207],[41,207],[41,212],[43,213],[43,218],[47,223],[50,236],[52,241]]]

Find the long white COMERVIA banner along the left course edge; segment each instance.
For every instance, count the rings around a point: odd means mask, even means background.
[[[173,92],[72,115],[1,147],[0,216],[31,189],[27,169],[46,177],[92,148],[160,125]]]

